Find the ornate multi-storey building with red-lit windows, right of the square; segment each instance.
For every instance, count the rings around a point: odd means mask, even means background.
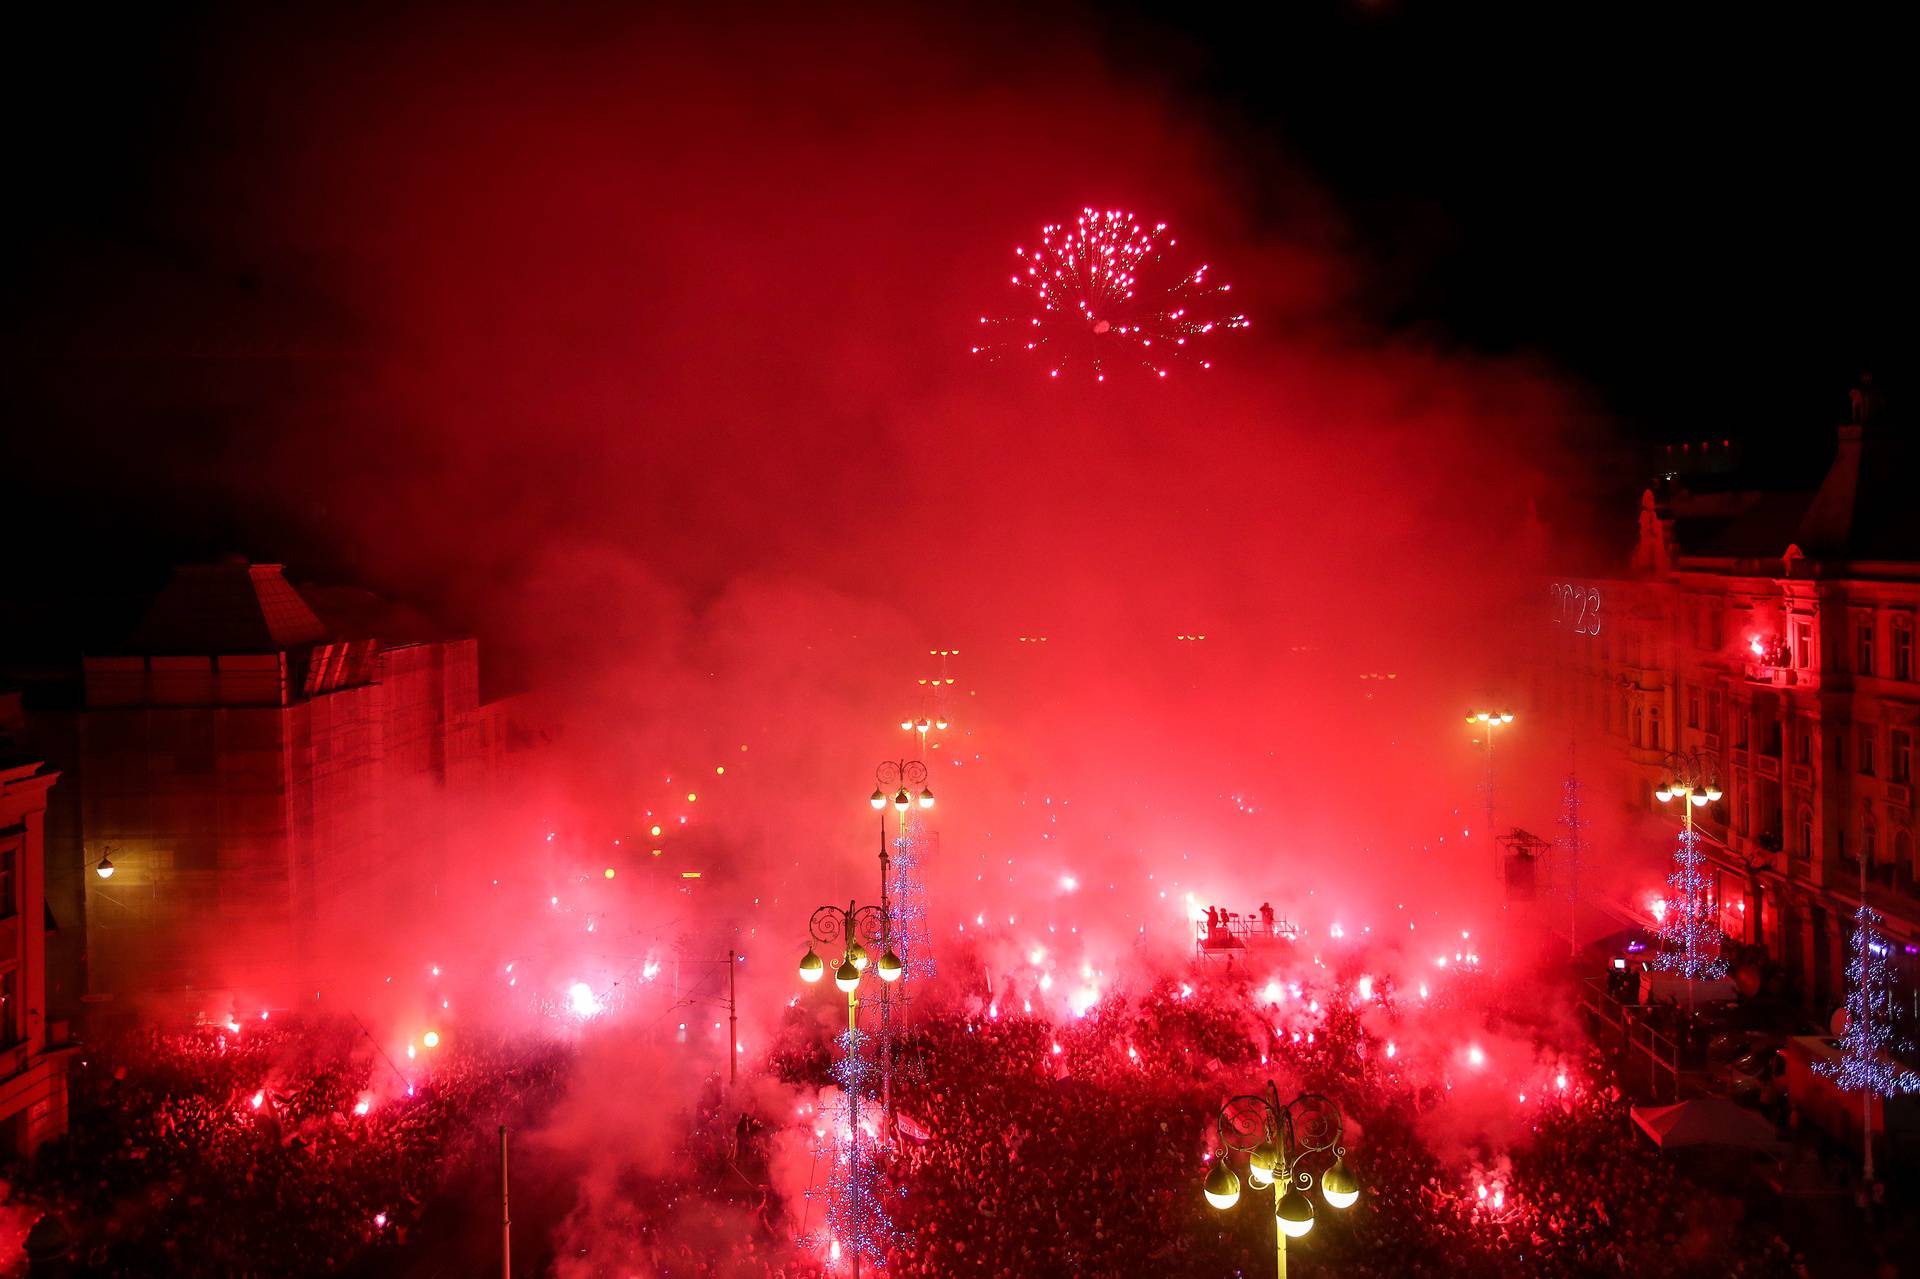
[[[1542,709],[1578,734],[1601,799],[1659,808],[1672,753],[1709,762],[1724,793],[1695,812],[1722,931],[1764,947],[1822,1018],[1845,997],[1864,889],[1914,1020],[1910,453],[1889,426],[1853,422],[1812,488],[1672,476],[1642,497],[1630,563],[1555,584],[1544,628]]]

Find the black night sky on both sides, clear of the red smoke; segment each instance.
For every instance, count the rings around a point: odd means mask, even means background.
[[[336,54],[359,27],[380,38],[371,13],[328,10]],[[324,365],[353,326],[323,267],[225,248],[248,200],[248,121],[204,125],[228,109],[236,67],[273,77],[250,48],[298,31],[259,21],[67,8],[13,31],[0,305],[29,595],[79,567],[111,576],[129,545],[152,563],[236,543],[321,570],[334,555],[271,471],[252,492],[194,478],[204,444],[228,463],[246,451],[236,419],[298,417],[280,373]],[[586,38],[595,21],[582,12]],[[979,19],[996,23],[1020,44],[1027,19]],[[1331,202],[1357,275],[1344,305],[1375,330],[1524,357],[1628,438],[1824,440],[1862,367],[1899,403],[1912,232],[1895,229],[1893,104],[1908,69],[1876,10],[1306,2],[1258,25],[1238,6],[1144,6],[1056,27],[1202,119],[1256,227],[1294,221],[1308,188]],[[73,392],[148,378],[169,394],[144,421],[127,421],[127,396]]]

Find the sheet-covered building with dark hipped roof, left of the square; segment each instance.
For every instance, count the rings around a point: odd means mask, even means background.
[[[484,785],[470,640],[338,634],[278,565],[182,567],[46,716],[88,1001],[288,1006],[426,901],[445,814]]]

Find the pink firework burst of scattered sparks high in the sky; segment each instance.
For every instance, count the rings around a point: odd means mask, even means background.
[[[1177,363],[1210,369],[1206,340],[1246,328],[1231,311],[1231,284],[1215,284],[1202,263],[1175,275],[1165,223],[1146,225],[1121,209],[1081,209],[1071,225],[1041,229],[1039,248],[1016,248],[1012,284],[1027,305],[1004,319],[979,317],[975,355],[1033,353],[1046,374],[1091,374],[1104,382],[1121,367],[1167,376]]]

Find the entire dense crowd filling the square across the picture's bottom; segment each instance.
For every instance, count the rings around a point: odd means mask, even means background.
[[[1323,995],[1340,989],[1321,981]],[[1273,1077],[1281,1098],[1338,1100],[1363,1185],[1352,1208],[1317,1200],[1313,1233],[1292,1244],[1309,1267],[1357,1279],[1807,1273],[1749,1208],[1763,1202],[1751,1179],[1688,1171],[1634,1131],[1594,1049],[1542,1043],[1559,1087],[1501,1104],[1501,1133],[1480,1133],[1444,1068],[1409,1066],[1382,1039],[1382,1026],[1402,1026],[1390,983],[1325,1006],[1311,995],[1296,987],[1283,1016],[1244,974],[1194,972],[1081,1016],[1033,1010],[1012,989],[924,1001],[895,1045],[897,1120],[868,1148],[887,1187],[870,1269],[1263,1273],[1273,1200],[1244,1185],[1238,1206],[1215,1210],[1202,1183],[1221,1152],[1221,1102]],[[1446,1026],[1511,1043],[1555,1033],[1478,995],[1434,995],[1421,1016]],[[828,1239],[818,1202],[831,1150],[814,1162],[812,1198],[781,1185],[772,1158],[797,1133],[770,1098],[831,1089],[833,1052],[829,1027],[793,1010],[766,1062],[789,1089],[730,1095],[710,1081],[672,1114],[672,1158],[563,1187],[540,1227],[541,1262],[563,1279],[845,1271],[831,1264],[845,1241]],[[357,1024],[319,1018],[96,1033],[73,1070],[71,1133],[21,1170],[15,1193],[63,1216],[81,1273],[403,1269],[436,1208],[442,1221],[472,1219],[495,1123],[538,1123],[574,1060],[566,1037],[468,1035],[394,1062]],[[735,1100],[749,1095],[756,1102]],[[680,1106],[643,1089],[632,1104]],[[1302,1168],[1317,1177],[1329,1158]]]

